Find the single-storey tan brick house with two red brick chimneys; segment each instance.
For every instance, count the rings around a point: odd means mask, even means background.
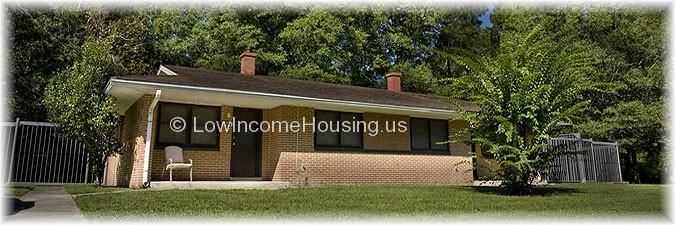
[[[255,75],[255,53],[241,55],[240,73],[160,66],[153,76],[111,78],[106,93],[124,117],[122,153],[108,158],[105,185],[143,187],[164,181],[163,148],[178,145],[192,159],[196,181],[254,179],[290,185],[467,185],[474,179],[462,101],[400,91]],[[403,77],[405,79],[405,77]],[[186,118],[183,132],[170,119]],[[206,120],[405,121],[404,132],[194,132]],[[174,171],[174,180],[187,180]]]

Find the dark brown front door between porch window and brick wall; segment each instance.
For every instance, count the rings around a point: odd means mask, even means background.
[[[259,109],[234,108],[234,118],[237,121],[251,121],[260,123]],[[238,124],[233,124],[237,126]],[[260,176],[260,131],[239,129],[232,134],[232,157],[230,161],[231,177],[259,177]],[[252,126],[256,130],[258,126]]]

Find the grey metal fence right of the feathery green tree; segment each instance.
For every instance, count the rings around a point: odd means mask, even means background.
[[[579,134],[552,138],[550,145],[561,151],[549,164],[548,182],[621,182],[616,143],[582,139]]]

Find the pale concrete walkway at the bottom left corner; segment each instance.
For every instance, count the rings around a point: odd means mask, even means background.
[[[36,186],[18,201],[15,200],[14,205],[18,212],[10,212],[13,214],[7,216],[4,222],[87,223],[63,186]]]

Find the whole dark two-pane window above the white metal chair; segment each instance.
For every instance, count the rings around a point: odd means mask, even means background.
[[[180,132],[171,129],[171,120],[176,117],[185,121],[182,125],[186,127]],[[158,147],[177,145],[183,148],[218,150],[219,133],[207,132],[204,124],[206,121],[220,120],[219,107],[160,103],[158,120],[159,132],[156,137]],[[196,127],[193,127],[194,125]],[[193,132],[195,130],[204,132]]]

